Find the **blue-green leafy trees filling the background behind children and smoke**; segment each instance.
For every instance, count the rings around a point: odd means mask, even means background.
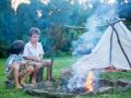
[[[21,3],[15,12],[11,1],[0,2],[0,58],[7,57],[12,41],[16,39],[28,41],[28,29],[32,26],[37,26],[41,30],[40,40],[46,56],[50,56],[52,49],[71,52],[71,42],[80,35],[80,30],[72,32],[74,29],[68,29],[64,25],[84,26],[99,3],[95,2],[93,9],[84,9],[78,2],[71,4],[72,0],[50,0],[48,4],[41,3],[40,0],[31,0],[29,4]],[[122,5],[120,3],[119,15],[131,19],[131,3]]]

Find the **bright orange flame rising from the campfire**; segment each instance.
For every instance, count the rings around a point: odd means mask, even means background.
[[[93,91],[94,90],[93,78],[94,78],[94,72],[90,71],[87,73],[87,78],[86,78],[86,83],[85,83],[85,87],[86,87],[87,91]]]

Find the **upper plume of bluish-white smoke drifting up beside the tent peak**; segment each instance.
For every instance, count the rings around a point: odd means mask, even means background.
[[[78,40],[74,40],[72,42],[72,54],[74,56],[91,53],[92,49],[95,48],[104,33],[102,28],[107,25],[106,21],[118,17],[117,3],[109,4],[97,2],[96,5],[96,3],[93,2],[92,5],[94,7],[94,11],[92,15],[86,20],[85,24],[87,32],[81,35]]]

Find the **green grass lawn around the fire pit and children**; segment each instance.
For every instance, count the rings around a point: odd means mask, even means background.
[[[55,58],[52,76],[53,78],[59,77],[61,69],[69,69],[71,64],[75,62],[75,58],[62,57]],[[44,72],[46,73],[46,72]],[[116,72],[116,73],[106,73],[103,75],[104,78],[109,79],[127,79],[131,81],[130,72]],[[36,96],[31,96],[24,90],[16,88],[7,89],[4,87],[5,76],[4,76],[4,59],[0,59],[0,98],[38,98]],[[97,94],[94,96],[78,96],[76,98],[131,98],[131,89],[126,93],[111,93],[111,94]]]

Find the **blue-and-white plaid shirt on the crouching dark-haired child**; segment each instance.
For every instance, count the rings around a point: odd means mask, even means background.
[[[11,54],[5,61],[5,74],[13,63],[20,63],[22,61],[24,61],[22,54]]]

